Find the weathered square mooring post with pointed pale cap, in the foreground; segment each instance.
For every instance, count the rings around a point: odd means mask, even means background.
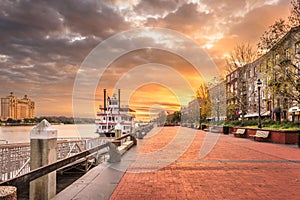
[[[30,131],[30,169],[56,161],[57,130],[43,120]],[[56,171],[30,182],[30,199],[46,200],[56,195]]]

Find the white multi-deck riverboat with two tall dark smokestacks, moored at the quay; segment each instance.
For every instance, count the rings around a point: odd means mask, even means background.
[[[120,89],[118,98],[113,94],[112,98],[106,98],[104,89],[104,106],[99,107],[95,120],[96,133],[106,137],[115,137],[117,132],[121,134],[131,133],[134,128],[134,110],[128,106],[121,107]]]

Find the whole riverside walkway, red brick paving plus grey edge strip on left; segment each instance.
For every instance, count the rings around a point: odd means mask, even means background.
[[[186,137],[179,136],[181,141],[174,142],[179,129]],[[200,157],[204,143],[212,141],[215,141],[213,148]],[[182,145],[187,148],[181,148]],[[175,155],[178,149],[184,151]],[[103,163],[93,168],[54,199],[299,199],[299,196],[300,149],[296,145],[164,127],[138,140],[120,163]]]

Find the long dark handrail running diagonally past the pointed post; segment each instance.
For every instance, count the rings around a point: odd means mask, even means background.
[[[50,172],[60,169],[60,168],[64,167],[65,165],[73,163],[80,158],[86,157],[86,156],[93,154],[93,153],[95,153],[103,148],[106,148],[108,146],[109,146],[109,142],[99,145],[99,146],[96,146],[92,149],[85,150],[83,152],[80,152],[80,153],[70,156],[68,158],[61,159],[61,160],[51,163],[49,165],[39,167],[37,169],[34,169],[34,170],[28,172],[27,174],[23,174],[21,176],[4,181],[4,182],[0,183],[0,185],[10,185],[10,186],[18,187],[20,185],[23,185],[24,183],[33,181],[41,176],[44,176]]]

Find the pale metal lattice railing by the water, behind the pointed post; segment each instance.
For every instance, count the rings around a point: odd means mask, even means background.
[[[104,144],[102,138],[59,138],[57,160]],[[103,152],[108,149],[103,149]],[[30,143],[0,145],[0,182],[30,172]]]

